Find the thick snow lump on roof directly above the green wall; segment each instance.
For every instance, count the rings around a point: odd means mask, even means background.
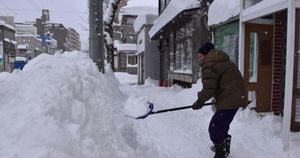
[[[208,25],[215,25],[239,14],[240,0],[214,0],[208,10]]]

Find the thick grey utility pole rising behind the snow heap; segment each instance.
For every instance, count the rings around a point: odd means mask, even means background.
[[[104,73],[103,0],[89,0],[89,54]]]

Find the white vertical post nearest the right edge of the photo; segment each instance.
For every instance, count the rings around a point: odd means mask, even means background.
[[[288,28],[286,43],[286,75],[284,93],[284,117],[283,117],[283,143],[284,150],[289,150],[291,113],[293,99],[293,78],[294,78],[294,54],[295,54],[295,0],[288,0]]]

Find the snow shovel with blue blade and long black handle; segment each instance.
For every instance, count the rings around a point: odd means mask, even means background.
[[[192,108],[192,107],[193,107],[193,105],[188,105],[188,106],[176,107],[176,108],[171,108],[171,109],[163,109],[163,110],[153,111],[153,109],[154,109],[154,104],[153,104],[153,103],[150,103],[150,102],[147,102],[147,103],[149,104],[147,113],[144,114],[144,115],[142,115],[142,116],[136,117],[135,119],[144,119],[144,118],[146,118],[147,116],[152,115],[152,114],[159,114],[159,113],[164,113],[164,112],[170,112],[170,111],[177,111],[177,110],[189,109],[189,108]],[[205,104],[203,104],[203,106],[213,105],[213,104],[214,104],[214,102],[211,102],[211,103],[205,103]]]

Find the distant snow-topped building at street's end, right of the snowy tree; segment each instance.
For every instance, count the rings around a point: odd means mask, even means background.
[[[114,66],[117,71],[124,71],[123,64],[127,63],[126,71],[128,73],[137,74],[137,34],[133,28],[133,23],[138,15],[143,14],[155,14],[157,8],[148,6],[128,6],[127,1],[122,1],[116,12],[116,20],[114,23],[114,43],[116,54],[115,60],[118,62]],[[117,42],[116,42],[117,41]],[[125,49],[120,49],[126,48]],[[129,48],[129,49],[127,49]],[[134,49],[132,49],[134,48]],[[126,53],[124,53],[126,52]],[[126,61],[126,62],[124,62]]]

